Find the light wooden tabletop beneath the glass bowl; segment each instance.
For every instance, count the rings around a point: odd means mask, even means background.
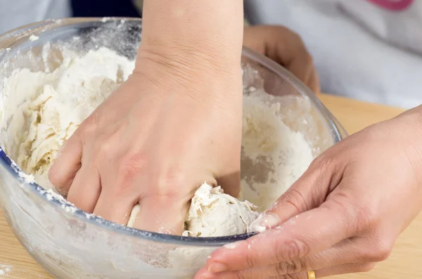
[[[349,134],[373,123],[390,119],[402,110],[382,105],[361,103],[328,95],[320,96],[333,115],[345,126]],[[10,268],[8,271],[7,267]],[[1,274],[2,271],[4,274]],[[3,214],[0,214],[0,278],[52,279],[20,245],[8,228]],[[343,279],[413,279],[422,278],[422,214],[404,231],[395,245],[388,261],[385,261],[370,273],[342,275]],[[81,279],[81,278],[75,278]],[[82,278],[83,279],[83,278]]]

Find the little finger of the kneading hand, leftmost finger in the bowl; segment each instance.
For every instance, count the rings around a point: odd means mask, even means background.
[[[72,181],[81,167],[81,160],[82,141],[75,133],[63,145],[49,170],[49,180],[60,193],[68,194]]]

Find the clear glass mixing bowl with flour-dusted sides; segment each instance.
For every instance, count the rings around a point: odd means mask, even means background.
[[[60,63],[57,46],[80,53],[106,46],[134,58],[140,40],[139,19],[70,18],[20,27],[0,37],[0,83],[20,67],[53,69]],[[272,95],[291,96],[283,98],[280,117],[305,135],[315,156],[347,136],[290,72],[248,48],[242,58],[245,93],[261,88]],[[1,113],[6,105],[0,103],[0,120],[6,117]],[[0,127],[0,135],[5,129]],[[242,176],[248,174],[242,171]],[[110,223],[38,186],[1,149],[0,205],[22,245],[56,278],[193,278],[214,249],[250,237],[190,238]]]

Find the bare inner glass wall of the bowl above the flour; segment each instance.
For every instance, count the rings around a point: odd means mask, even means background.
[[[4,77],[10,76],[15,69],[25,67],[34,72],[52,72],[63,62],[63,48],[84,54],[107,47],[134,59],[140,41],[141,20],[135,19],[74,18],[30,25],[0,38],[0,49],[4,48],[0,52],[0,85]],[[290,129],[305,136],[315,157],[340,141],[338,127],[332,122],[329,112],[292,74],[247,48],[243,49],[242,66],[244,93],[264,90],[271,96],[280,96],[276,99],[282,108],[279,117]],[[2,103],[11,106],[24,101],[16,98],[5,100],[6,97],[0,93]],[[11,104],[11,100],[15,103]],[[9,119],[3,116],[0,120],[0,131],[4,133]],[[0,146],[5,144],[0,136]],[[9,155],[12,159],[18,156]],[[243,162],[243,178],[255,179],[258,174],[254,174],[247,164]]]

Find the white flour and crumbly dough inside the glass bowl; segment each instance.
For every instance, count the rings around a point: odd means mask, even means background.
[[[134,68],[133,61],[107,48],[85,56],[69,51],[61,55],[63,61],[51,72],[15,70],[0,100],[7,104],[0,110],[0,145],[46,189],[52,187],[47,174],[64,141]],[[280,105],[274,104],[278,98],[283,97],[255,91],[243,100],[242,198],[260,211],[313,160],[303,135],[281,120]],[[255,207],[213,191],[200,188],[196,193],[185,235],[245,233],[257,216]]]

